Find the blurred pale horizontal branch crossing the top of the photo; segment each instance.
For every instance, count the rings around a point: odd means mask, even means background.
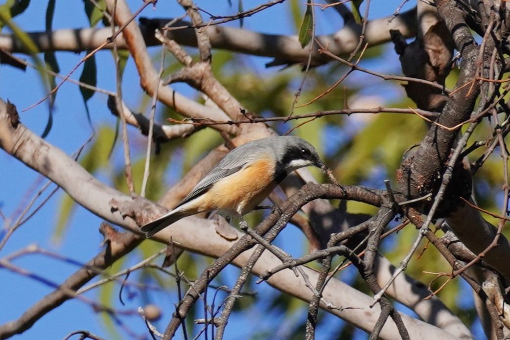
[[[416,9],[402,13],[388,23],[390,18],[384,17],[368,22],[365,39],[370,46],[390,41],[389,30],[399,30],[406,38],[416,35]],[[143,38],[147,46],[160,44],[154,38],[154,31],[162,29],[171,20],[171,18],[140,20]],[[190,22],[178,20],[173,26],[183,27],[183,29],[169,31],[168,38],[182,45],[197,46],[196,35]],[[309,58],[309,49],[301,47],[297,36],[262,34],[219,25],[210,26],[207,31],[213,48],[272,57],[281,64],[305,63]],[[333,34],[317,38],[324,46],[329,46],[331,53],[337,56],[346,56],[352,53],[358,45],[360,32],[360,25],[349,24]],[[29,32],[28,34],[41,52],[58,50],[81,52],[94,49],[104,43],[112,35],[112,30],[111,28],[56,30],[50,33]],[[0,34],[0,47],[12,53],[25,53],[23,44],[12,34]],[[125,40],[118,39],[118,47],[127,48]],[[109,44],[105,48],[112,48],[112,45]],[[329,58],[319,55],[317,48],[313,50],[312,63],[314,65],[330,61]]]

